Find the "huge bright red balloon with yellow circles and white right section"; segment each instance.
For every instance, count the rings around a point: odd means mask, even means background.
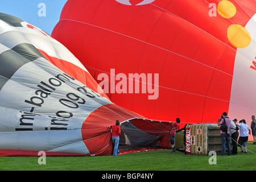
[[[217,122],[226,111],[250,123],[256,113],[255,13],[254,0],[69,0],[52,36],[99,83],[111,69],[126,76],[158,73],[157,99],[106,92],[126,109],[162,121],[179,117],[183,124]]]

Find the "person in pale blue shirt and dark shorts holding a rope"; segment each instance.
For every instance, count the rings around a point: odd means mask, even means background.
[[[247,130],[249,130],[249,134],[251,134],[251,130],[250,130],[249,126],[244,123],[243,120],[240,120],[239,124],[236,124],[236,125],[240,127],[240,137],[238,139],[238,144],[240,145],[240,148],[242,150],[241,152],[247,153],[247,150],[246,150],[247,141],[248,141]],[[243,150],[243,148],[244,148],[244,150]]]

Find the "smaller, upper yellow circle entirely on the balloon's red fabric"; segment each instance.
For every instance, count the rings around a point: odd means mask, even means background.
[[[230,1],[221,1],[218,3],[218,14],[220,14],[224,18],[232,18],[236,13],[236,6]]]

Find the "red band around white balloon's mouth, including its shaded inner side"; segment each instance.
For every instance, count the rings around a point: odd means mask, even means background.
[[[115,104],[102,105],[90,113],[82,123],[82,140],[90,154],[110,155],[112,153],[113,144],[109,126],[114,125],[117,119],[120,122],[131,119],[130,122],[133,122],[138,129],[151,135],[164,136],[172,128],[172,123],[139,119],[144,117],[121,108]]]

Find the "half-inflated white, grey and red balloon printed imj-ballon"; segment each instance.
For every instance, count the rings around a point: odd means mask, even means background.
[[[0,156],[111,155],[117,119],[120,143],[132,146],[159,143],[172,129],[113,104],[97,87],[62,44],[0,13]]]

